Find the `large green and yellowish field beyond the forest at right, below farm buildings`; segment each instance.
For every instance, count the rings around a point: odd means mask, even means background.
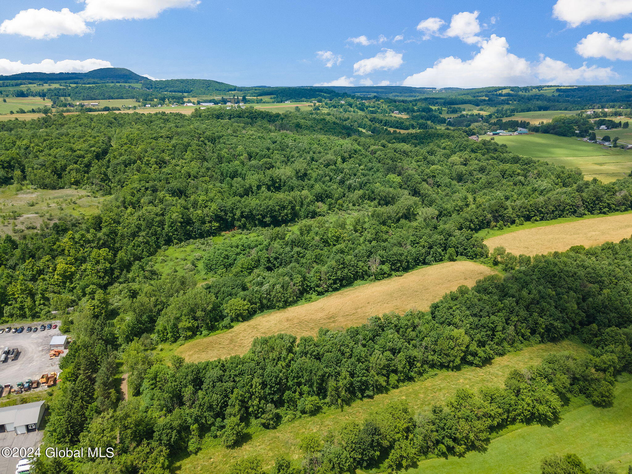
[[[506,144],[509,150],[519,155],[569,168],[578,167],[585,179],[597,178],[609,183],[625,178],[632,171],[632,151],[604,148],[597,143],[588,143],[576,138],[534,133],[498,136],[495,140]]]

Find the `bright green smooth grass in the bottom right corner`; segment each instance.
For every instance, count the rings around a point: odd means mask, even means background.
[[[429,459],[408,474],[538,474],[540,460],[575,453],[586,465],[601,463],[628,472],[632,461],[632,380],[617,383],[611,408],[581,406],[552,427],[532,425],[491,442],[484,453],[463,458]],[[621,462],[619,462],[621,461]]]

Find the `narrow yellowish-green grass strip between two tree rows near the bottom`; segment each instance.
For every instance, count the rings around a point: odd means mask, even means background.
[[[223,474],[228,471],[231,463],[246,456],[259,456],[264,468],[269,470],[274,458],[281,454],[295,460],[300,459],[298,442],[306,434],[337,432],[344,423],[350,420],[361,421],[370,411],[399,400],[405,400],[413,412],[429,410],[433,404],[442,403],[454,396],[459,388],[476,391],[482,387],[502,386],[511,370],[536,365],[550,353],[563,351],[585,353],[585,349],[569,341],[539,344],[498,357],[485,367],[466,367],[458,372],[440,372],[429,379],[413,382],[372,399],[355,401],[345,407],[344,411],[330,409],[316,416],[284,423],[276,430],[260,429],[252,432],[251,439],[235,449],[226,449],[218,442],[212,441],[202,447],[202,451],[195,456],[176,464],[175,471],[181,474]]]

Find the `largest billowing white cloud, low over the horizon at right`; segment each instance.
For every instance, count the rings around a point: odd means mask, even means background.
[[[483,40],[472,59],[442,58],[432,68],[408,76],[403,85],[411,87],[487,87],[520,86],[544,83],[571,84],[581,81],[604,82],[616,76],[611,68],[581,66],[573,69],[562,61],[543,58],[532,64],[509,51],[504,37],[492,35]]]

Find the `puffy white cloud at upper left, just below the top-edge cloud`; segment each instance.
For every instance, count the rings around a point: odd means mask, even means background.
[[[91,31],[83,18],[68,8],[63,8],[61,11],[29,8],[20,11],[11,20],[4,20],[0,25],[0,33],[28,36],[33,39],[51,39],[59,35],[83,35]]]

